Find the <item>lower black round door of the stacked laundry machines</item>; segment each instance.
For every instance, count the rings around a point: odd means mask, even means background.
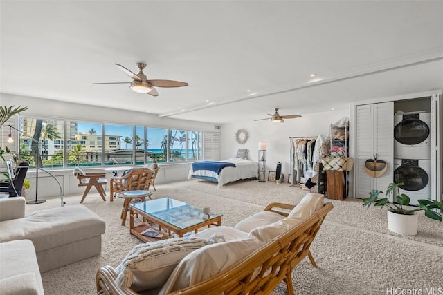
[[[394,171],[394,181],[403,182],[400,188],[405,191],[419,191],[424,189],[429,182],[429,175],[418,166],[419,160],[401,160],[401,166]]]

